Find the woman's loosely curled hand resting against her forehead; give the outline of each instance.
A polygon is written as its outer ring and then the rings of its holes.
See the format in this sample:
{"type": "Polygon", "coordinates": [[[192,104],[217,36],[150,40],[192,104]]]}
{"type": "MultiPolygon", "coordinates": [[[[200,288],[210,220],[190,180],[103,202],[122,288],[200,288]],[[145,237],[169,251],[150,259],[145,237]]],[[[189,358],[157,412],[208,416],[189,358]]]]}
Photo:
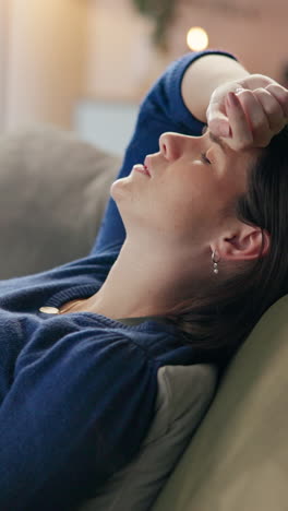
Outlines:
{"type": "Polygon", "coordinates": [[[251,74],[218,86],[206,116],[211,131],[232,150],[265,147],[288,121],[288,91],[268,76],[251,74]]]}

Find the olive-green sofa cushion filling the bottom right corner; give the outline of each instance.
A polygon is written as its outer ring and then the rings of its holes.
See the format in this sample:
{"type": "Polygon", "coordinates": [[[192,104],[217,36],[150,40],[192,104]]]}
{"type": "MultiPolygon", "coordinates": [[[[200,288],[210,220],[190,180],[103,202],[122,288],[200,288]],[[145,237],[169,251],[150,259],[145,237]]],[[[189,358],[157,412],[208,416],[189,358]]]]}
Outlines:
{"type": "Polygon", "coordinates": [[[288,296],[230,364],[153,511],[288,509],[288,296]]]}

